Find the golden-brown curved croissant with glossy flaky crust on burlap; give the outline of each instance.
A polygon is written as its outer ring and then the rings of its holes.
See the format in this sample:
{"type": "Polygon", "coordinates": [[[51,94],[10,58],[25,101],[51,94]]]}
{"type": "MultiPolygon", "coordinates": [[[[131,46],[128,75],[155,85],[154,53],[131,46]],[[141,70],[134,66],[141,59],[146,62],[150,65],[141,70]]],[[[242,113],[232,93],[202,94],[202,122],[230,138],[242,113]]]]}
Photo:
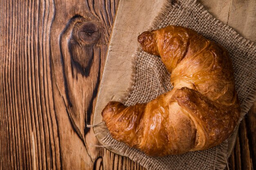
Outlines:
{"type": "Polygon", "coordinates": [[[138,41],[161,56],[173,89],[130,107],[109,102],[101,114],[112,137],[150,156],[205,150],[227,139],[240,116],[227,51],[182,26],[146,31],[138,41]]]}

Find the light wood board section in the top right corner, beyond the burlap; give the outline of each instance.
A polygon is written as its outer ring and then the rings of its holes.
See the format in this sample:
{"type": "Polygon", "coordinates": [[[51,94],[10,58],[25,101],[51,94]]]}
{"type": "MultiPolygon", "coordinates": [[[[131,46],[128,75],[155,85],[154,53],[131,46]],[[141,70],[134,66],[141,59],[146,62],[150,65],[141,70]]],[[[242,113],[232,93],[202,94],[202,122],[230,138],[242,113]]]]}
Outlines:
{"type": "Polygon", "coordinates": [[[256,42],[255,0],[198,0],[221,22],[234,28],[240,35],[256,42]]]}

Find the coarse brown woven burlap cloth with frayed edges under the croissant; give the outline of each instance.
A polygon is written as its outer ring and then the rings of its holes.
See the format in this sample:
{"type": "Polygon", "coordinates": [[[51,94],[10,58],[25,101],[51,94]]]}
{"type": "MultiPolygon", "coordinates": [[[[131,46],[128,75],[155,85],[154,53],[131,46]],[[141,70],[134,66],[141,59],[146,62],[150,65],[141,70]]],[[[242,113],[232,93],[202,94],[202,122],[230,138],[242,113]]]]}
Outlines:
{"type": "MultiPolygon", "coordinates": [[[[155,19],[152,29],[168,25],[185,26],[218,42],[229,51],[235,70],[236,89],[242,110],[240,120],[242,120],[256,99],[256,45],[218,21],[195,0],[179,0],[167,4],[163,13],[155,19]]],[[[143,52],[140,48],[135,53],[133,84],[128,94],[125,94],[126,97],[121,100],[127,106],[148,102],[172,89],[170,74],[159,57],[143,52]]],[[[106,133],[106,128],[103,129],[106,133]]],[[[148,157],[139,150],[116,141],[109,133],[101,142],[106,148],[111,148],[115,153],[127,156],[150,170],[224,169],[227,165],[228,144],[230,145],[226,140],[209,150],[166,157],[148,157]]]]}

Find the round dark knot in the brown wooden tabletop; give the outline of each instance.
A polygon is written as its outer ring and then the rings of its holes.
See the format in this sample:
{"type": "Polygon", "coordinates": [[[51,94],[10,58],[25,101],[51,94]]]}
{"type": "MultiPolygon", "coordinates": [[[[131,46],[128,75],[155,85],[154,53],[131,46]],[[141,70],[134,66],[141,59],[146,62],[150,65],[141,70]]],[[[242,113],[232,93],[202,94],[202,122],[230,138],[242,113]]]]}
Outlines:
{"type": "Polygon", "coordinates": [[[92,21],[78,22],[75,29],[76,39],[84,44],[93,44],[101,37],[99,28],[92,21]]]}

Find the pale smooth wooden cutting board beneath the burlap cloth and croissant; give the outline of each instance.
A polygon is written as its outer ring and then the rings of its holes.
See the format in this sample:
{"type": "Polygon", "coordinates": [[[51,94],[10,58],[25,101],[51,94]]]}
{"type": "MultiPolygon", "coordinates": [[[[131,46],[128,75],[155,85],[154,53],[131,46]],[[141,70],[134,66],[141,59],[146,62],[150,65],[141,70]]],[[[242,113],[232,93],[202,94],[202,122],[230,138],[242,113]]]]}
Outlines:
{"type": "MultiPolygon", "coordinates": [[[[146,25],[140,24],[140,17],[143,18],[145,16],[144,14],[148,13],[147,10],[150,9],[153,4],[144,1],[132,2],[133,1],[126,2],[122,0],[119,2],[119,9],[121,9],[122,12],[117,12],[113,27],[113,36],[110,39],[105,70],[103,72],[97,105],[94,112],[94,124],[102,122],[100,113],[109,101],[118,101],[128,91],[131,82],[132,56],[133,52],[135,52],[138,47],[136,35],[147,30],[146,28],[150,27],[150,22],[153,21],[152,19],[148,20],[148,18],[146,18],[143,20],[149,22],[146,25]],[[138,6],[144,7],[141,8],[139,14],[136,13],[138,6]],[[125,10],[123,7],[129,7],[129,10],[125,10]]],[[[251,39],[252,41],[256,40],[256,31],[253,29],[256,21],[254,10],[256,9],[256,5],[254,1],[251,0],[243,3],[230,0],[201,0],[200,2],[205,5],[213,16],[225,24],[233,26],[233,28],[245,38],[251,39]],[[246,25],[244,21],[247,21],[246,25]]],[[[165,1],[158,1],[158,3],[160,6],[163,6],[161,4],[164,4],[165,1]]],[[[97,127],[95,127],[95,131],[97,131],[97,127]]],[[[238,131],[238,129],[236,129],[236,131],[238,131]]],[[[236,133],[234,135],[236,135],[236,133]]],[[[103,136],[104,134],[97,135],[100,142],[103,136]]],[[[233,139],[235,140],[236,136],[234,136],[233,139]]],[[[230,141],[230,143],[234,142],[230,141]]],[[[230,154],[233,148],[234,145],[230,145],[230,154]]]]}

